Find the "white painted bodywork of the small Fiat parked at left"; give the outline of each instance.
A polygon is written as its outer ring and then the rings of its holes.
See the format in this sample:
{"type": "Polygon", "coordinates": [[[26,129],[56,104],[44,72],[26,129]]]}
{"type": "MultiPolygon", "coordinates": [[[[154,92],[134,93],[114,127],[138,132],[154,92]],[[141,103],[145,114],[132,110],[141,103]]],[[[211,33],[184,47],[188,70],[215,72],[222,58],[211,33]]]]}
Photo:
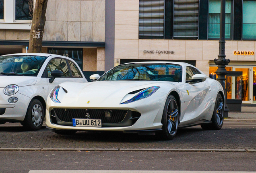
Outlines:
{"type": "MultiPolygon", "coordinates": [[[[41,69],[37,76],[5,76],[0,75],[0,108],[6,108],[6,111],[3,115],[0,115],[0,122],[21,122],[24,120],[27,113],[27,108],[30,101],[37,96],[43,98],[46,103],[47,96],[49,92],[58,84],[62,82],[87,82],[83,72],[79,68],[78,64],[71,58],[66,56],[59,56],[55,54],[35,54],[35,53],[26,53],[26,54],[8,54],[8,55],[35,55],[35,56],[46,56],[48,57],[45,62],[42,64],[41,69]],[[74,64],[79,68],[83,78],[55,78],[52,84],[49,83],[49,77],[42,78],[42,74],[47,66],[47,64],[53,58],[64,58],[74,62],[74,64]],[[19,87],[18,93],[8,96],[4,94],[4,88],[10,84],[15,84],[19,87]],[[19,101],[17,103],[9,103],[8,99],[10,97],[17,97],[19,101]]],[[[4,56],[8,56],[4,55],[4,56]]],[[[1,58],[1,56],[0,56],[1,58]]]]}

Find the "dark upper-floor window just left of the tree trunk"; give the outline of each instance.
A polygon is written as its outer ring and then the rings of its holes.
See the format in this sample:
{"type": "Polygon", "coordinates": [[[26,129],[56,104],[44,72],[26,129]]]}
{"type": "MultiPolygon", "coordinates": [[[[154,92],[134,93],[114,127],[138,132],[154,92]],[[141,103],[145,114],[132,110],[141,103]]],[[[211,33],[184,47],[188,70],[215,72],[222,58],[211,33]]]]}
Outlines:
{"type": "Polygon", "coordinates": [[[32,20],[33,0],[15,0],[15,20],[32,20]]]}

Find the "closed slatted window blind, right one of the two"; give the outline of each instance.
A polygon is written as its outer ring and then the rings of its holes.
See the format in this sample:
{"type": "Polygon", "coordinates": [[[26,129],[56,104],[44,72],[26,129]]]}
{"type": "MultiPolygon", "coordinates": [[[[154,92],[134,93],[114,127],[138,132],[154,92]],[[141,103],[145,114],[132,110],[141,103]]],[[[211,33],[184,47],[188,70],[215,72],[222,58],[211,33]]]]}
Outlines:
{"type": "Polygon", "coordinates": [[[174,0],[173,37],[198,37],[199,0],[174,0]]]}

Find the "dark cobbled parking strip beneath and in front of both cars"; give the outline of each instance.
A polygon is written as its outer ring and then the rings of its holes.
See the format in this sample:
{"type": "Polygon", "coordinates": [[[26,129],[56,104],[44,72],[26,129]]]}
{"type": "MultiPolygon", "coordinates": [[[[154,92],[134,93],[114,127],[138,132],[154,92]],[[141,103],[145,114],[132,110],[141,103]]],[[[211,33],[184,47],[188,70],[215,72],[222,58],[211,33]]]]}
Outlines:
{"type": "Polygon", "coordinates": [[[19,124],[6,123],[0,125],[1,148],[256,149],[256,121],[225,121],[220,131],[206,131],[200,126],[179,129],[171,141],[130,133],[81,131],[72,136],[57,135],[45,127],[24,131],[19,124]]]}

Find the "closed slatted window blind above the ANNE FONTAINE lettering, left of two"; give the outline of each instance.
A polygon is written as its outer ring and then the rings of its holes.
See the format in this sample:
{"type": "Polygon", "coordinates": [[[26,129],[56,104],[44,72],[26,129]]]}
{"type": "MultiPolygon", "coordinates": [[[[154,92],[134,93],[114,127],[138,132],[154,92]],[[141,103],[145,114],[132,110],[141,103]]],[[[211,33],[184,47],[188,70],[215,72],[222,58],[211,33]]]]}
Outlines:
{"type": "Polygon", "coordinates": [[[164,0],[139,0],[139,36],[163,36],[164,0]]]}

